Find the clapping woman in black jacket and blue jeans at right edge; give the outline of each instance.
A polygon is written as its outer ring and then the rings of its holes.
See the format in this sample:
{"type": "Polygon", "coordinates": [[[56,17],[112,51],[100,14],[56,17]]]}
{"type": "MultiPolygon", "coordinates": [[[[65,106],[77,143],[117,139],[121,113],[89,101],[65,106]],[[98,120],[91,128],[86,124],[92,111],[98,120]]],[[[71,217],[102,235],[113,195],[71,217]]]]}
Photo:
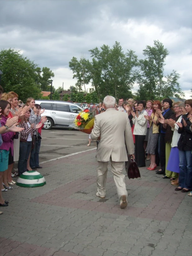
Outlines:
{"type": "Polygon", "coordinates": [[[181,137],[178,141],[177,147],[179,149],[179,187],[175,190],[181,192],[189,192],[192,190],[192,132],[190,130],[191,122],[189,120],[192,115],[192,99],[185,101],[185,109],[188,112],[183,115],[181,123],[177,122],[179,126],[178,133],[181,137]]]}

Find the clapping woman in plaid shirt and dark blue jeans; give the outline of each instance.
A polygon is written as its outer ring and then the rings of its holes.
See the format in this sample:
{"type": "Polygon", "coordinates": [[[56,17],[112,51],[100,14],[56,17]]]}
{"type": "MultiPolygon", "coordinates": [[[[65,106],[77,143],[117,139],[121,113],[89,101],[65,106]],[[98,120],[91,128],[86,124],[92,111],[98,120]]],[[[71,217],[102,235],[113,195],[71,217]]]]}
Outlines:
{"type": "Polygon", "coordinates": [[[19,148],[19,161],[18,161],[18,173],[21,175],[25,171],[27,171],[27,160],[30,155],[31,146],[32,146],[32,135],[34,131],[37,131],[42,123],[39,124],[31,124],[29,121],[31,114],[31,109],[25,114],[25,120],[22,124],[20,124],[21,128],[24,130],[21,131],[20,137],[20,148],[19,148]]]}

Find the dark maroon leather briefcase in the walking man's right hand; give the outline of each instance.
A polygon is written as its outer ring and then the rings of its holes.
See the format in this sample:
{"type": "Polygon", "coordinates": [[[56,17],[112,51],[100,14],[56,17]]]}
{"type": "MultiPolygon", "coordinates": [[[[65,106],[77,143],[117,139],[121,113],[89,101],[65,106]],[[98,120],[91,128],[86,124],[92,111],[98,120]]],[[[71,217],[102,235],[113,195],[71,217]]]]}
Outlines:
{"type": "Polygon", "coordinates": [[[141,177],[137,163],[132,156],[128,155],[128,161],[125,162],[125,170],[129,179],[141,177]]]}

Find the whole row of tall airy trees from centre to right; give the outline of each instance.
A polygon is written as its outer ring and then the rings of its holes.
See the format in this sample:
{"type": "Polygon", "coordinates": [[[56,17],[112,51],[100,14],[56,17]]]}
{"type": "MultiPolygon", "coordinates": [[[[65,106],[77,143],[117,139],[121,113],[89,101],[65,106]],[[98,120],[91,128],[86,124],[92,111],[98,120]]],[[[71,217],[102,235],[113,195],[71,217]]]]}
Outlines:
{"type": "Polygon", "coordinates": [[[134,84],[139,85],[135,96],[137,99],[161,99],[176,94],[183,96],[178,83],[179,74],[175,70],[167,75],[164,73],[169,52],[158,40],[154,41],[153,46],[146,46],[144,59],[140,60],[132,50],[124,53],[118,42],[112,48],[104,44],[100,49],[96,47],[89,52],[91,60],[81,58],[78,61],[73,57],[69,67],[73,71],[73,78],[77,79],[78,91],[87,93],[85,85],[91,84],[97,102],[107,94],[116,99],[132,98],[134,84]]]}

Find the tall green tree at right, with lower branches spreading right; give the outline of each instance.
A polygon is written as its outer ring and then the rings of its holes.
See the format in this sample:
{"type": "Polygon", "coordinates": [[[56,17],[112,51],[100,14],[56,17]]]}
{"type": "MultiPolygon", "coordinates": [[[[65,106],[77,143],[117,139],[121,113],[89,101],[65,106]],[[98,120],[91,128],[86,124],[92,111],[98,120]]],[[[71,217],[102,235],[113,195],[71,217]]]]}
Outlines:
{"type": "Polygon", "coordinates": [[[178,83],[179,74],[174,70],[168,75],[164,74],[165,60],[169,55],[167,48],[155,40],[154,46],[146,46],[143,55],[145,59],[139,60],[140,70],[137,73],[137,98],[148,100],[162,99],[174,94],[183,95],[178,83]]]}

